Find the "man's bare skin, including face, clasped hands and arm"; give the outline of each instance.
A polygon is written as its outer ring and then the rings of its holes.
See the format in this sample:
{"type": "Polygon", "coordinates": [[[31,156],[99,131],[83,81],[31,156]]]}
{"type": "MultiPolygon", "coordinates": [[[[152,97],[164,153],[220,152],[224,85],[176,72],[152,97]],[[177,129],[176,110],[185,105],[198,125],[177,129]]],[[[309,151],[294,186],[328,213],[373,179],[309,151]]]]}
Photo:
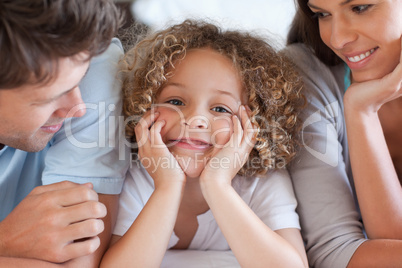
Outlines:
{"type": "MultiPolygon", "coordinates": [[[[89,66],[84,59],[86,53],[61,59],[48,84],[0,90],[0,149],[39,151],[66,118],[85,114],[78,87],[89,66]],[[74,107],[81,108],[71,114],[74,107]]],[[[98,195],[90,183],[36,187],[0,222],[0,266],[97,267],[117,204],[118,196],[98,195]]]]}

